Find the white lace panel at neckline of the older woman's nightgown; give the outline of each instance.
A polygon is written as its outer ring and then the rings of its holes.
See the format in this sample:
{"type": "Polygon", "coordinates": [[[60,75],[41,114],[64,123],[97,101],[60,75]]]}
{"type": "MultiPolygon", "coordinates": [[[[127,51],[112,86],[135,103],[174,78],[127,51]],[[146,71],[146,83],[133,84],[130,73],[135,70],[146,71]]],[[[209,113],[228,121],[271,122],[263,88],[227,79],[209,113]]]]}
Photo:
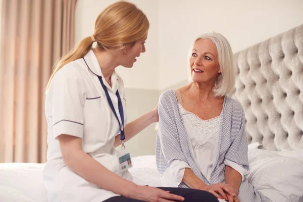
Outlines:
{"type": "Polygon", "coordinates": [[[209,120],[200,119],[195,114],[186,111],[180,104],[179,109],[182,118],[192,131],[192,136],[199,145],[205,144],[219,130],[220,116],[209,120]]]}

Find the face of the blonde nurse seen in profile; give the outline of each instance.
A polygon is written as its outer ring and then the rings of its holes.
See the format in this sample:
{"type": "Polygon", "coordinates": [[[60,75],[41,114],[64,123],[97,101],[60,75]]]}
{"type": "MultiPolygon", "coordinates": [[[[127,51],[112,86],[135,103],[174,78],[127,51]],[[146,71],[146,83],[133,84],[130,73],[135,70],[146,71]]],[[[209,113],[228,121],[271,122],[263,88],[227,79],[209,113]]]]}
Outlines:
{"type": "Polygon", "coordinates": [[[122,60],[121,65],[123,67],[132,68],[134,62],[136,62],[136,58],[140,56],[141,53],[145,52],[145,40],[147,39],[147,34],[145,34],[142,38],[138,39],[133,46],[126,46],[122,49],[122,60]]]}

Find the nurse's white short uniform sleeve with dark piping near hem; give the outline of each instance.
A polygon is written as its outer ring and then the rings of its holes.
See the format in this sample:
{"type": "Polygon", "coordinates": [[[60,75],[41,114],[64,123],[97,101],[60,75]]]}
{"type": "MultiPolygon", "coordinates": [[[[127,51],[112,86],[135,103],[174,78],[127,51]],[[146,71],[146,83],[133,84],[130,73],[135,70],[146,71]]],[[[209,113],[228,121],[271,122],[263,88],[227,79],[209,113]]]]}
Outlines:
{"type": "Polygon", "coordinates": [[[85,90],[83,78],[74,67],[59,70],[50,86],[54,137],[61,134],[83,137],[85,90]]]}

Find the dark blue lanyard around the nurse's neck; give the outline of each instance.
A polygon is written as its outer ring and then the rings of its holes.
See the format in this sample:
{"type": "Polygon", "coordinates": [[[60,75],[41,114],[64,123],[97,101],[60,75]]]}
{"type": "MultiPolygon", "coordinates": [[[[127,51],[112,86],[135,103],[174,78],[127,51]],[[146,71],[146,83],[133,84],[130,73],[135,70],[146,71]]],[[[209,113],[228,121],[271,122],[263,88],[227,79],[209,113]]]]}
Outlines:
{"type": "MultiPolygon", "coordinates": [[[[87,63],[86,63],[86,61],[85,61],[84,58],[83,58],[83,60],[84,60],[84,62],[86,64],[86,66],[88,67],[88,65],[87,65],[87,63]]],[[[90,69],[90,68],[88,67],[88,69],[90,69]]],[[[102,76],[98,76],[98,75],[96,75],[96,76],[98,77],[98,79],[99,79],[99,81],[100,81],[100,83],[101,83],[101,85],[102,85],[102,87],[103,87],[103,89],[105,91],[108,103],[109,103],[109,105],[110,105],[110,107],[111,107],[111,109],[112,109],[112,111],[113,111],[113,113],[114,113],[114,115],[115,115],[118,123],[119,123],[119,127],[120,127],[120,141],[122,142],[122,149],[124,149],[125,148],[125,146],[124,146],[124,140],[125,140],[125,134],[124,134],[124,114],[123,114],[123,106],[122,106],[122,102],[121,102],[121,97],[120,97],[119,91],[117,90],[116,95],[118,97],[118,109],[119,109],[119,114],[120,114],[120,118],[121,118],[123,129],[121,129],[122,127],[121,127],[119,118],[118,118],[116,110],[114,108],[112,99],[111,99],[111,97],[109,95],[109,91],[108,91],[107,87],[104,85],[104,82],[102,80],[102,76]]]]}

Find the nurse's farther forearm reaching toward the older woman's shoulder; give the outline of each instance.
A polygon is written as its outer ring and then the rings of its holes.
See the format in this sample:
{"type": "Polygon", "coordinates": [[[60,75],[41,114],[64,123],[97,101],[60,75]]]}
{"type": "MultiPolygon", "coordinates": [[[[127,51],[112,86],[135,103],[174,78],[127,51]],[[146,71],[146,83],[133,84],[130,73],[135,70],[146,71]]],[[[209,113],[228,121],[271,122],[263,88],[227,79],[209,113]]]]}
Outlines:
{"type": "MultiPolygon", "coordinates": [[[[156,122],[156,115],[154,111],[147,112],[146,114],[142,115],[141,117],[135,119],[134,121],[126,124],[124,133],[125,133],[125,141],[130,140],[136,134],[141,132],[150,124],[156,122]]],[[[114,147],[121,145],[120,141],[120,134],[115,137],[114,147]]]]}

